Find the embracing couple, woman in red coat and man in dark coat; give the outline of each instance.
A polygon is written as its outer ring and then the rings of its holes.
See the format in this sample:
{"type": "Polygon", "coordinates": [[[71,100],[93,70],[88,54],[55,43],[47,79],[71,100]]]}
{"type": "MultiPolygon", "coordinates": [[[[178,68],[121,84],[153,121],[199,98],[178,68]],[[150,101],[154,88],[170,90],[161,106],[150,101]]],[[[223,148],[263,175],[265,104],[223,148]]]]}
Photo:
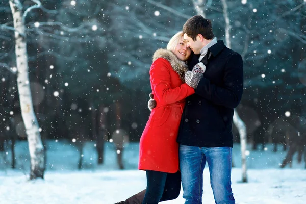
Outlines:
{"type": "Polygon", "coordinates": [[[211,21],[187,20],[150,67],[151,114],[140,139],[145,190],[119,203],[155,204],[179,196],[202,203],[207,162],[217,204],[233,204],[233,114],[243,92],[241,56],[217,40],[211,21]]]}

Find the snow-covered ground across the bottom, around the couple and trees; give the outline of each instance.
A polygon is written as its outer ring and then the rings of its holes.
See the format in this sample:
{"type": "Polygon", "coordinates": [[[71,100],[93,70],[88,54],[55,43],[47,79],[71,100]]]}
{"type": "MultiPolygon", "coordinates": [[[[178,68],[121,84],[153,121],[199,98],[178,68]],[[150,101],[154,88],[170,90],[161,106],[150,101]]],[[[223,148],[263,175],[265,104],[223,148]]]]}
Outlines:
{"type": "MultiPolygon", "coordinates": [[[[0,158],[0,203],[101,203],[113,204],[143,190],[145,172],[137,170],[138,143],[130,143],[124,151],[126,170],[118,170],[116,152],[111,143],[106,143],[105,163],[96,164],[93,142],[84,150],[84,168],[77,170],[78,151],[67,141],[48,141],[47,171],[45,180],[27,181],[29,153],[27,142],[16,144],[17,169],[11,170],[0,158]]],[[[286,152],[250,151],[247,158],[248,183],[241,183],[240,146],[234,145],[233,158],[236,167],[232,171],[232,188],[236,203],[305,203],[306,170],[304,163],[296,159],[292,168],[279,168],[286,152]]],[[[7,153],[7,162],[10,152],[7,153]]],[[[296,157],[296,156],[295,156],[296,157]]],[[[203,203],[215,203],[205,169],[203,203]]],[[[163,203],[184,203],[182,191],[179,198],[163,203]]]]}

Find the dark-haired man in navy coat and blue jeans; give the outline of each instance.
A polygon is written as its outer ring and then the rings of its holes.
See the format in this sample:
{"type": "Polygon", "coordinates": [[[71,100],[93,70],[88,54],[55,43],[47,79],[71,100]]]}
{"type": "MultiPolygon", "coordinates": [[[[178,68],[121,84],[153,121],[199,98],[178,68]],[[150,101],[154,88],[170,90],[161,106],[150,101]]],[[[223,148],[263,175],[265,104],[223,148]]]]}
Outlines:
{"type": "Polygon", "coordinates": [[[211,21],[196,15],[183,26],[184,39],[194,56],[189,70],[203,63],[201,73],[187,71],[185,81],[195,89],[186,98],[177,142],[180,143],[185,204],[202,203],[203,170],[206,162],[217,204],[232,204],[232,123],[234,108],[243,92],[241,56],[217,41],[211,21]]]}

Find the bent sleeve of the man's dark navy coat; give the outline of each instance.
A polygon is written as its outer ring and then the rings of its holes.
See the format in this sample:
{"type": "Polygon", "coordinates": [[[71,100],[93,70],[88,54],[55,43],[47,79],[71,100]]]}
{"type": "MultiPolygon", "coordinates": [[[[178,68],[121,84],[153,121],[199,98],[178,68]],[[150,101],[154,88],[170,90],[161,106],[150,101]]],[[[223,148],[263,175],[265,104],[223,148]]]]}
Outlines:
{"type": "Polygon", "coordinates": [[[243,62],[238,53],[228,59],[224,68],[223,86],[218,87],[203,77],[195,93],[212,101],[216,105],[236,108],[240,103],[243,92],[243,62]]]}

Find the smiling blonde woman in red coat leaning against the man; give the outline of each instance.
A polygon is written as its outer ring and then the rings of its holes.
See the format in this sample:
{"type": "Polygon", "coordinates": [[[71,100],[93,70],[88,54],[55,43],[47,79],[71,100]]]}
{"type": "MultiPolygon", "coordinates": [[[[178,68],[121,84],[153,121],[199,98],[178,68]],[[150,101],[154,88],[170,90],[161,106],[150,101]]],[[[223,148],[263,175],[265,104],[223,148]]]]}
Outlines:
{"type": "Polygon", "coordinates": [[[158,203],[175,199],[181,190],[179,144],[177,133],[185,98],[194,89],[184,82],[188,70],[186,61],[191,55],[183,38],[176,33],[167,49],[158,49],[150,68],[150,84],[156,100],[139,143],[138,169],[146,171],[146,190],[120,203],[158,203]],[[142,201],[142,202],[141,202],[142,201]]]}

